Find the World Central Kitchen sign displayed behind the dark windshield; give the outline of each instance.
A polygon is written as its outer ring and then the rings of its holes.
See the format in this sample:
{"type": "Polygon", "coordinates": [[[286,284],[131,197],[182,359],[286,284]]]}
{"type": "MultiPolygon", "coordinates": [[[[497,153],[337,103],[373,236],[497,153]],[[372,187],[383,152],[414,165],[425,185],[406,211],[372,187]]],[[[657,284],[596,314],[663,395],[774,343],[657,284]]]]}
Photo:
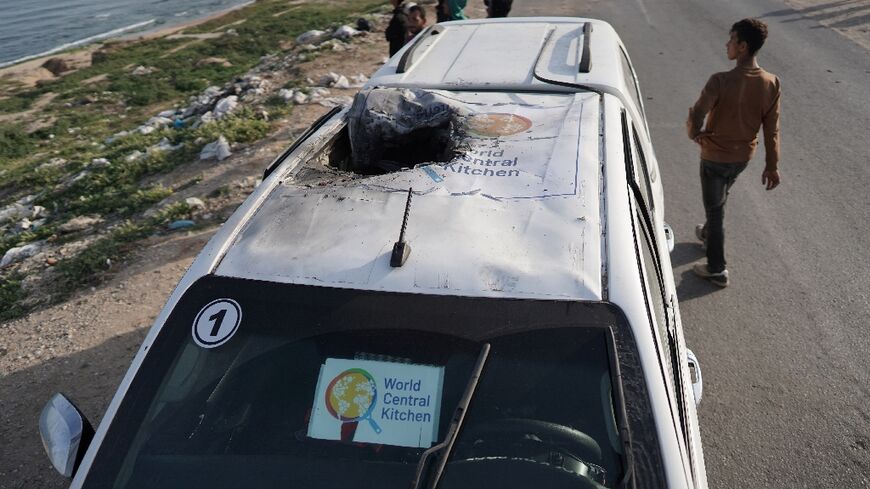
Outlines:
{"type": "Polygon", "coordinates": [[[429,448],[438,435],[444,368],[328,358],[308,436],[429,448]]]}

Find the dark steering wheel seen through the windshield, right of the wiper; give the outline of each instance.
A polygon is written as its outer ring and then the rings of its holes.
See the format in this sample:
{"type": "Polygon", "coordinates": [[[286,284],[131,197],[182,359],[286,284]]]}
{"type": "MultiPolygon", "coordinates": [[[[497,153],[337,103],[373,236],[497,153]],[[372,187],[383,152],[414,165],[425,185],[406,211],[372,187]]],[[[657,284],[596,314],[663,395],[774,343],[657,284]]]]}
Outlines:
{"type": "Polygon", "coordinates": [[[533,463],[580,476],[590,483],[603,483],[601,446],[582,431],[548,421],[503,418],[469,425],[461,438],[466,463],[503,466],[533,463]]]}

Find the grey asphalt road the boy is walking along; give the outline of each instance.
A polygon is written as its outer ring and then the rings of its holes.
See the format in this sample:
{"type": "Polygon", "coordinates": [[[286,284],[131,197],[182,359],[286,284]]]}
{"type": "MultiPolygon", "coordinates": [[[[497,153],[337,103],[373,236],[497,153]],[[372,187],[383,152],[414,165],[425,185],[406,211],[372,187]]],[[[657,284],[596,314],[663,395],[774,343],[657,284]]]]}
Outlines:
{"type": "MultiPolygon", "coordinates": [[[[777,0],[514,0],[512,16],[604,19],[632,57],[677,234],[683,324],[704,374],[712,488],[870,487],[870,53],[801,15],[846,3],[799,12],[777,0]],[[709,75],[732,67],[725,42],[744,17],[769,25],[759,62],[783,86],[783,183],[764,190],[759,151],[732,189],[732,286],[720,290],[690,271],[703,208],[683,122],[709,75]]],[[[870,25],[860,5],[853,22],[870,25]]]]}

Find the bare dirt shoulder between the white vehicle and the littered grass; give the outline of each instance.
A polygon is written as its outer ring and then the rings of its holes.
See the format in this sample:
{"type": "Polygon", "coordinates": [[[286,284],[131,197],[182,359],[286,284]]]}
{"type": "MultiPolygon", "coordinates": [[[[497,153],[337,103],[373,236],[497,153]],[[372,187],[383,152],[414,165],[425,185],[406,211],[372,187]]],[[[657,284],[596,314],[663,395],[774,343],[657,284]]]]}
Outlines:
{"type": "MultiPolygon", "coordinates": [[[[482,4],[481,4],[482,5],[482,4]]],[[[430,9],[430,18],[434,11],[430,9]]],[[[483,17],[481,7],[467,9],[483,17]]],[[[318,80],[329,72],[371,75],[383,62],[385,19],[375,31],[345,51],[300,65],[301,78],[318,80]]],[[[277,76],[277,74],[276,74],[277,76]]],[[[330,89],[332,96],[356,89],[330,89]]],[[[263,169],[306,127],[329,110],[300,105],[279,129],[221,162],[192,161],[153,177],[171,187],[185,186],[173,198],[211,196],[212,225],[160,234],[136,243],[124,263],[112,267],[102,285],[70,300],[0,324],[0,489],[61,488],[69,481],[51,467],[39,441],[38,419],[54,392],[67,394],[96,426],[152,321],[173,287],[220,222],[253,189],[263,169]],[[191,182],[193,182],[191,184],[191,182]]]]}

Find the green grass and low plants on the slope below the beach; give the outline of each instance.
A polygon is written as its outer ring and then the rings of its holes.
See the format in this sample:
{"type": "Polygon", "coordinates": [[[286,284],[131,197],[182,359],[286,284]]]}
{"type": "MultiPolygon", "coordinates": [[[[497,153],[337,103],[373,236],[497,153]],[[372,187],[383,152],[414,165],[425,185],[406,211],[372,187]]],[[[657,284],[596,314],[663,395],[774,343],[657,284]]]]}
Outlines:
{"type": "MultiPolygon", "coordinates": [[[[58,227],[77,216],[99,215],[107,224],[116,224],[76,256],[57,263],[53,297],[60,299],[78,286],[96,283],[108,264],[122,259],[136,241],[191,213],[185,204],[174,204],[156,216],[143,217],[143,211],[173,193],[144,184],[148,177],[196,160],[203,145],[219,135],[230,143],[250,143],[267,136],[273,127],[255,111],[240,108],[196,128],[164,128],[150,134],[133,129],[162,110],[186,106],[189,97],[209,86],[223,86],[248,72],[264,55],[280,55],[282,45],[307,30],[352,23],[360,13],[382,10],[384,4],[383,0],[328,4],[311,0],[290,7],[286,0],[260,0],[187,31],[223,33],[220,37],[109,42],[94,54],[90,67],[34,88],[4,82],[0,115],[30,110],[37,100],[40,108],[28,117],[32,123],[22,124],[14,117],[0,123],[0,208],[35,195],[33,203],[50,215],[34,230],[0,231],[0,256],[38,240],[73,239],[58,237],[58,227]],[[146,67],[146,73],[134,75],[138,66],[146,67]],[[112,137],[120,131],[131,132],[112,137]],[[168,143],[176,149],[156,149],[164,139],[164,146],[168,143]],[[94,163],[98,158],[108,164],[94,163]]],[[[280,99],[271,99],[266,106],[273,119],[292,110],[280,99]]],[[[228,191],[218,190],[218,196],[228,191]]],[[[21,276],[0,273],[0,321],[27,312],[26,293],[21,276]]]]}

